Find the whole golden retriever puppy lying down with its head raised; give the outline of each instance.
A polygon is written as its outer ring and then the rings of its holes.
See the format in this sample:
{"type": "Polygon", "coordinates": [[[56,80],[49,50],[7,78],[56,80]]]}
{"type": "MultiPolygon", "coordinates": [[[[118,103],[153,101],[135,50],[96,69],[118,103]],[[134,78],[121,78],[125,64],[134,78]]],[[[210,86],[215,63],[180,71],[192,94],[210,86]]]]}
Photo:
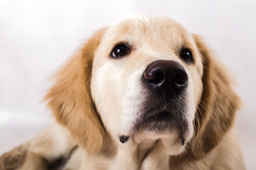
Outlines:
{"type": "Polygon", "coordinates": [[[240,98],[198,35],[160,16],[102,28],[55,75],[55,121],[2,169],[245,169],[240,98]],[[9,167],[9,168],[8,168],[9,167]]]}

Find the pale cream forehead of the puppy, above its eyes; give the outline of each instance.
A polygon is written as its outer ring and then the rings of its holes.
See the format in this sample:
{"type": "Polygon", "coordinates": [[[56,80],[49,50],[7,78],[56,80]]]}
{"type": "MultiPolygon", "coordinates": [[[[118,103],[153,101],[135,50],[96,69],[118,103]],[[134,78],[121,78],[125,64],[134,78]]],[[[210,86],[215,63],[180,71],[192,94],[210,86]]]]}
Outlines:
{"type": "Polygon", "coordinates": [[[191,40],[180,23],[162,16],[136,16],[117,23],[106,32],[108,42],[131,42],[137,46],[150,45],[175,49],[191,40]],[[184,42],[186,41],[186,42],[184,42]]]}

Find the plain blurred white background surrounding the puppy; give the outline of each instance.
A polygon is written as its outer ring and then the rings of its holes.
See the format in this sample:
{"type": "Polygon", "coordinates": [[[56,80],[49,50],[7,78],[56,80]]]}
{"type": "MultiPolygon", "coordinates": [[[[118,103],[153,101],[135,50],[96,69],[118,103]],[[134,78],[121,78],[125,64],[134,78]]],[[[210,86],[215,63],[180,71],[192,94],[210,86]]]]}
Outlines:
{"type": "Polygon", "coordinates": [[[176,19],[203,35],[238,80],[236,128],[247,169],[256,169],[256,1],[0,0],[0,154],[51,120],[49,77],[93,33],[136,13],[176,19]]]}

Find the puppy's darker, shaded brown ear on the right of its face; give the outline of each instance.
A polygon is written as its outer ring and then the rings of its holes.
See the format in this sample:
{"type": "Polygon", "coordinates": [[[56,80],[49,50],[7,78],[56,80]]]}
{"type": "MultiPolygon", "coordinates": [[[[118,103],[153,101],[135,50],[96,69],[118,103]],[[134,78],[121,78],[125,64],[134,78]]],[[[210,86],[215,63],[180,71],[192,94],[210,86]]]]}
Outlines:
{"type": "Polygon", "coordinates": [[[213,58],[213,52],[198,35],[193,39],[203,60],[203,94],[194,120],[193,155],[203,157],[233,126],[241,102],[225,66],[213,58]]]}

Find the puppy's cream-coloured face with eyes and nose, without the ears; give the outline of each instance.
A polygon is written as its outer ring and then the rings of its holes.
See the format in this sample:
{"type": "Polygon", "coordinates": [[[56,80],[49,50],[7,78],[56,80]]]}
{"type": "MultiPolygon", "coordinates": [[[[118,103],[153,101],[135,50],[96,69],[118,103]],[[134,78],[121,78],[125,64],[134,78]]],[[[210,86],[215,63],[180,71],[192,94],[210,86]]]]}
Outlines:
{"type": "Polygon", "coordinates": [[[91,93],[113,138],[164,141],[181,152],[193,136],[203,65],[188,31],[169,18],[107,28],[92,64],[91,93]]]}

